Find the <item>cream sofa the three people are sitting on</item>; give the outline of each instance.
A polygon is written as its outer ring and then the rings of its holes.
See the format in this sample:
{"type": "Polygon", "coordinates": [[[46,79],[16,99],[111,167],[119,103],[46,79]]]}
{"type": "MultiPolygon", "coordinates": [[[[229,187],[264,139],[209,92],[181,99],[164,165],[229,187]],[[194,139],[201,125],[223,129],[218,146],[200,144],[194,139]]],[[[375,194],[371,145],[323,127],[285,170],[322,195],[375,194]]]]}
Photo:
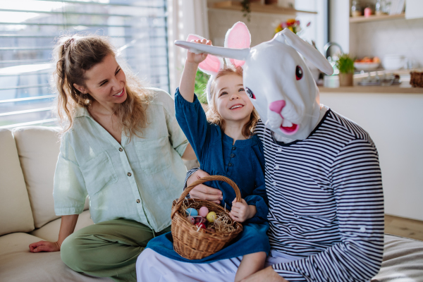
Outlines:
{"type": "MultiPolygon", "coordinates": [[[[53,177],[58,128],[0,129],[0,282],[111,281],[68,268],[59,252],[29,252],[30,243],[56,241],[53,177]]],[[[76,229],[92,224],[86,204],[76,229]]],[[[385,236],[382,269],[375,281],[423,282],[423,242],[385,236]]]]}

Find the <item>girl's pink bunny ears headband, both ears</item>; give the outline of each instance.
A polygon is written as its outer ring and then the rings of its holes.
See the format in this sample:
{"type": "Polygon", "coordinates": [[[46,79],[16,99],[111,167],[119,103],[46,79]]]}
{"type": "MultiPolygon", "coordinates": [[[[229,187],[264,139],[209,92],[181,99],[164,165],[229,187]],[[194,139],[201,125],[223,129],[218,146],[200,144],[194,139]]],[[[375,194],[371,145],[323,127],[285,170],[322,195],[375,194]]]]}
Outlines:
{"type": "MultiPolygon", "coordinates": [[[[204,39],[199,35],[188,35],[187,42],[191,42],[191,40],[200,40],[204,39]]],[[[250,48],[251,44],[251,35],[250,31],[248,31],[247,25],[242,22],[235,23],[231,29],[226,32],[225,36],[225,47],[226,48],[233,48],[233,49],[245,49],[250,48]]],[[[245,61],[240,61],[237,59],[229,59],[229,61],[233,64],[233,66],[243,66],[245,61]]],[[[221,71],[225,66],[225,61],[223,58],[217,57],[214,55],[207,55],[207,58],[200,63],[198,68],[203,73],[207,73],[210,75],[209,82],[207,82],[206,93],[207,93],[207,102],[210,103],[212,99],[212,95],[210,93],[210,87],[214,78],[216,77],[217,73],[221,71]]]]}

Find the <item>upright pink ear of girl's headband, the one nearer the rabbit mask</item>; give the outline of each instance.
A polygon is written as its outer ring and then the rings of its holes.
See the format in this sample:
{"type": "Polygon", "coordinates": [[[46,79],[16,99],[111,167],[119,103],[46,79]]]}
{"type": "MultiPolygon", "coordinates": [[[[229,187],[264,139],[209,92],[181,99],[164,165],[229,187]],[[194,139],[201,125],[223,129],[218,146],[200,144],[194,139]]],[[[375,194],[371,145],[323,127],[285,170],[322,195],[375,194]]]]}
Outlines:
{"type": "MultiPolygon", "coordinates": [[[[243,22],[238,22],[226,32],[225,36],[225,47],[233,49],[245,49],[250,48],[251,35],[248,31],[247,25],[243,22]]],[[[245,61],[236,59],[229,59],[234,66],[243,66],[245,61]]]]}

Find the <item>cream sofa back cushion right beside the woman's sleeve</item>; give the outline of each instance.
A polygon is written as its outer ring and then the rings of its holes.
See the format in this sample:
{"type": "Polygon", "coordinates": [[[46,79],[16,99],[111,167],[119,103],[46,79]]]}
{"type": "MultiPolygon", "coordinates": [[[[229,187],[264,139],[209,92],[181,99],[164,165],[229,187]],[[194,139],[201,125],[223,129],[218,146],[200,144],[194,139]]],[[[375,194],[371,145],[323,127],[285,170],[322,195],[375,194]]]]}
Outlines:
{"type": "Polygon", "coordinates": [[[15,128],[20,166],[27,186],[35,228],[57,219],[54,213],[53,180],[59,157],[59,128],[27,126],[15,128]]]}

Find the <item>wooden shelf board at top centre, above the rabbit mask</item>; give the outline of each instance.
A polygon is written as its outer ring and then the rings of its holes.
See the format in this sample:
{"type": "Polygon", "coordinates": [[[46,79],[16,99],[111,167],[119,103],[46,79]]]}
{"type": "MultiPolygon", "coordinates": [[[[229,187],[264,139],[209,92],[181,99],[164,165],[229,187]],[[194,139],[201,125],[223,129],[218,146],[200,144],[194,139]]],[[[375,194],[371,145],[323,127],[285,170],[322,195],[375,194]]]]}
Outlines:
{"type": "MultiPolygon", "coordinates": [[[[212,8],[241,11],[243,9],[243,6],[241,6],[240,2],[238,1],[221,1],[221,2],[214,3],[212,8]]],[[[317,12],[311,12],[311,11],[299,11],[293,8],[279,7],[276,5],[262,5],[258,3],[250,4],[250,8],[252,12],[277,13],[277,14],[283,14],[283,15],[295,15],[297,13],[317,13],[317,12]]]]}

